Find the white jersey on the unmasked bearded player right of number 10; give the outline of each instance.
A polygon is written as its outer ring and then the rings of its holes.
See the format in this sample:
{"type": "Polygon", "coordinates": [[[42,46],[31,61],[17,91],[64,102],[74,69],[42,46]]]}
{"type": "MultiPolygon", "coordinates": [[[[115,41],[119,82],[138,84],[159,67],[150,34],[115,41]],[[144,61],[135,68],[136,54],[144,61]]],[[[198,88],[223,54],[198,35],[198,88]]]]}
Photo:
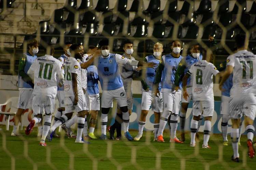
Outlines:
{"type": "Polygon", "coordinates": [[[76,61],[74,57],[69,57],[65,61],[63,67],[65,71],[65,82],[64,82],[65,97],[74,96],[71,73],[77,74],[76,80],[77,80],[78,95],[79,96],[84,95],[83,88],[82,88],[81,66],[78,63],[78,61],[76,61]]]}

